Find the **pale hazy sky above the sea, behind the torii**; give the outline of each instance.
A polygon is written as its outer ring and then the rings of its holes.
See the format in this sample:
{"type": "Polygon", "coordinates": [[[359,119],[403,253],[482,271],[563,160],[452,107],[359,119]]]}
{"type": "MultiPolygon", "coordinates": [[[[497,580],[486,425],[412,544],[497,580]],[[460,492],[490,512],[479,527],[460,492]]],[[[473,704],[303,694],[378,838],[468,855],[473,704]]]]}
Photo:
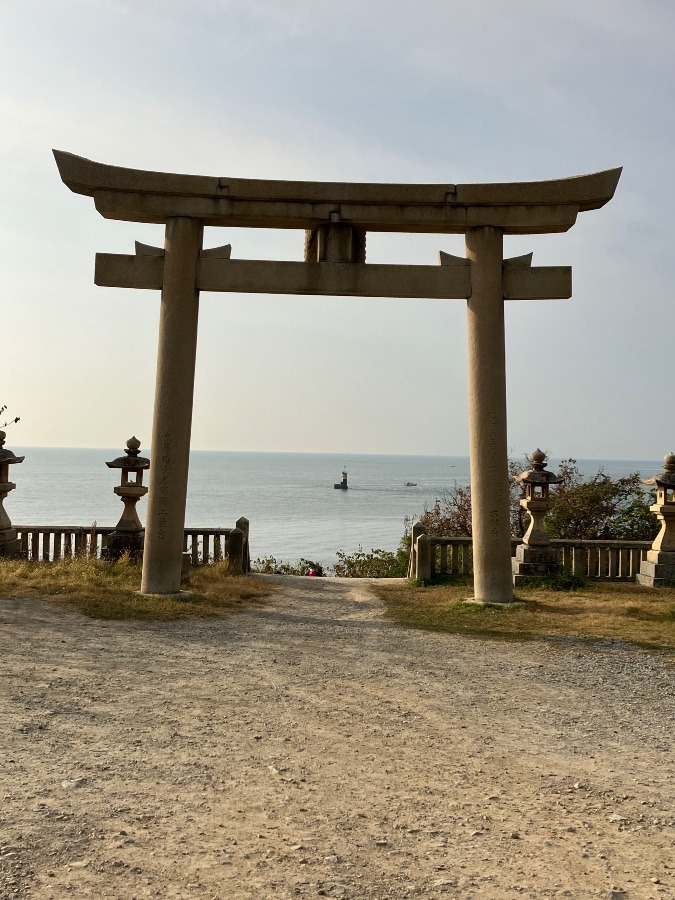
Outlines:
{"type": "MultiPolygon", "coordinates": [[[[508,255],[571,265],[567,301],[507,305],[509,445],[675,448],[672,0],[0,0],[0,404],[8,445],[151,433],[159,295],[94,255],[160,244],[103,219],[51,148],[122,166],[308,180],[481,182],[623,165],[614,199],[508,255]]],[[[301,259],[303,233],[208,229],[301,259]]],[[[370,262],[464,255],[370,234],[370,262]]],[[[204,293],[196,449],[468,452],[461,300],[204,293]]]]}

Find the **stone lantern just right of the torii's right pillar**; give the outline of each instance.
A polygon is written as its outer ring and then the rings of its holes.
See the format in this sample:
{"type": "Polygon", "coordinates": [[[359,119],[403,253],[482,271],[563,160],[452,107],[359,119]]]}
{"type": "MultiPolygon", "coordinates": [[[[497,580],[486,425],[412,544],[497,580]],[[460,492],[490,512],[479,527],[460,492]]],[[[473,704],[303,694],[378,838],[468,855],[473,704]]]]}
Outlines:
{"type": "Polygon", "coordinates": [[[551,508],[549,488],[560,484],[562,478],[546,471],[546,454],[538,448],[530,456],[530,464],[529,469],[515,477],[525,488],[520,505],[530,514],[530,526],[512,560],[514,584],[522,584],[528,577],[555,575],[560,571],[558,551],[551,547],[544,529],[544,516],[551,508]]]}

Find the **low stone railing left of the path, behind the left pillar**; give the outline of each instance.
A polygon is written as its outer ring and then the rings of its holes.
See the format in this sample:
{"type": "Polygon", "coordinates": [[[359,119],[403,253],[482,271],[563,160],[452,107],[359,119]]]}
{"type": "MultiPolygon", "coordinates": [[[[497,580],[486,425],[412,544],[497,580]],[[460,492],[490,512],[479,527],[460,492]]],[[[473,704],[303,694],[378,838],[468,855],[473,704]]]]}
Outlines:
{"type": "MultiPolygon", "coordinates": [[[[21,556],[29,560],[53,562],[74,556],[100,557],[106,549],[113,526],[91,525],[15,525],[21,541],[21,556]]],[[[251,569],[248,546],[248,519],[241,518],[235,528],[186,528],[183,552],[198,566],[227,559],[234,572],[251,569]]]]}

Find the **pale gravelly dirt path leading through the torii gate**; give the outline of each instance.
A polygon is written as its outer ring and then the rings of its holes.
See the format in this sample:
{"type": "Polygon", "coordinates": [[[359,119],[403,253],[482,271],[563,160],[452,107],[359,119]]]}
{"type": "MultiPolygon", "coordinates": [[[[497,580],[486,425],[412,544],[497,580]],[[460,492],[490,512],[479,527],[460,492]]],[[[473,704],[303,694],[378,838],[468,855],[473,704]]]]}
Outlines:
{"type": "Polygon", "coordinates": [[[675,897],[666,660],[280,580],[169,625],[0,599],[3,900],[675,897]]]}

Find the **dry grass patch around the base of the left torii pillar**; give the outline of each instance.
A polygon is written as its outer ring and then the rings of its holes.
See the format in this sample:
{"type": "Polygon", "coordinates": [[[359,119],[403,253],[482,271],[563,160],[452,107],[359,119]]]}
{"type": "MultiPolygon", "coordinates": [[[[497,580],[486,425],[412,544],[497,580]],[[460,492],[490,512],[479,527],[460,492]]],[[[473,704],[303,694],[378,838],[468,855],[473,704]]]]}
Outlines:
{"type": "Polygon", "coordinates": [[[0,597],[47,600],[94,619],[167,622],[219,616],[260,601],[277,589],[253,576],[229,575],[225,562],[193,569],[185,597],[142,596],[140,585],[140,564],[125,557],[117,562],[0,560],[0,597]]]}

